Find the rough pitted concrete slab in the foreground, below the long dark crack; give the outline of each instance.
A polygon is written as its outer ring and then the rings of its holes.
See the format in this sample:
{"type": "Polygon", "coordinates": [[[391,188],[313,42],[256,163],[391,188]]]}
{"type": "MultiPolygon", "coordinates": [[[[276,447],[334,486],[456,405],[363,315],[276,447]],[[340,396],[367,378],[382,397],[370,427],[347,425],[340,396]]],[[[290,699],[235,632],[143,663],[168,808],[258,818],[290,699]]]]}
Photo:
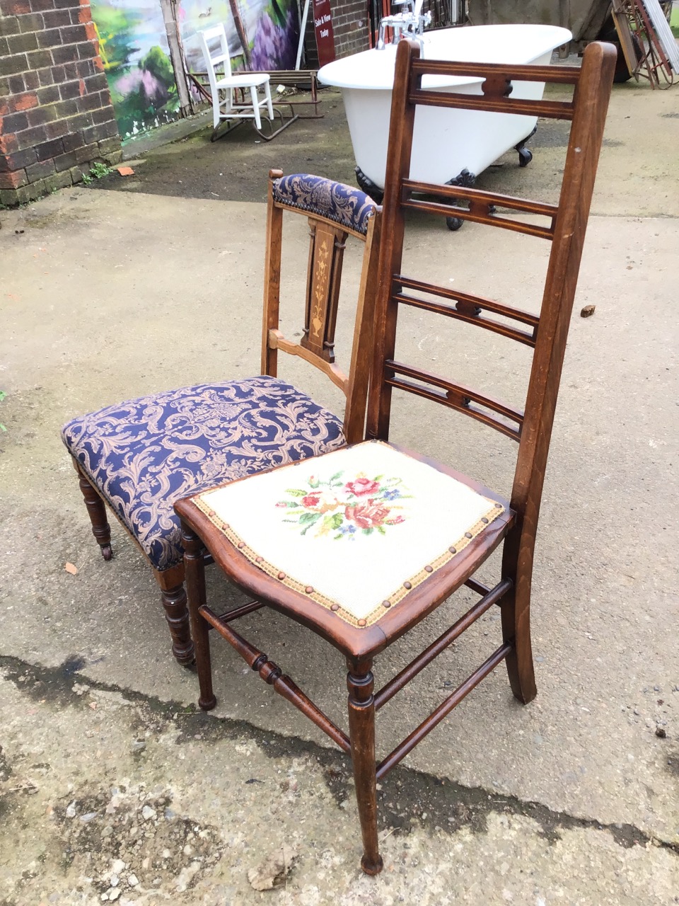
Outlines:
{"type": "Polygon", "coordinates": [[[407,768],[380,793],[385,871],[369,879],[334,752],[67,670],[3,658],[0,671],[0,896],[13,906],[676,901],[676,853],[628,825],[407,768]],[[283,845],[287,878],[253,891],[247,872],[283,845]]]}

